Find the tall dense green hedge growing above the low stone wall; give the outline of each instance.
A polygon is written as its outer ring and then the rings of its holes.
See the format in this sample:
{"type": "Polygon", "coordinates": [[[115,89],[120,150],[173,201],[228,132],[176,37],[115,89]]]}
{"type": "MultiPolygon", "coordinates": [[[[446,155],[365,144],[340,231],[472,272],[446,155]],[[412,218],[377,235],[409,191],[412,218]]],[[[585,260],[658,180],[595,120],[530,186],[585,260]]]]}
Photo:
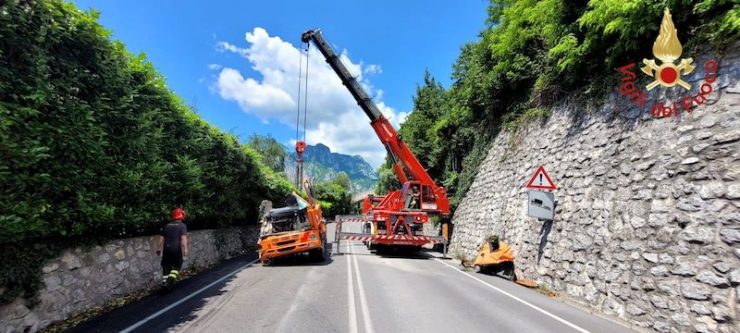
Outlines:
{"type": "Polygon", "coordinates": [[[260,200],[291,190],[97,17],[57,0],[0,4],[0,301],[32,294],[48,257],[18,249],[151,233],[175,205],[193,228],[254,223],[260,200]]]}

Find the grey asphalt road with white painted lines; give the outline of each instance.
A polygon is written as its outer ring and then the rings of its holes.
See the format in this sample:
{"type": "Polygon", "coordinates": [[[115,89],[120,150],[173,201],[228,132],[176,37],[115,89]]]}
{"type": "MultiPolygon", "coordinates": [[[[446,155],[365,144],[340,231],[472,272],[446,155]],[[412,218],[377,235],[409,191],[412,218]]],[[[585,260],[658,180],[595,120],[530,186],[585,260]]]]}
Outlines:
{"type": "Polygon", "coordinates": [[[70,332],[631,332],[438,254],[340,249],[322,263],[232,260],[70,332]]]}

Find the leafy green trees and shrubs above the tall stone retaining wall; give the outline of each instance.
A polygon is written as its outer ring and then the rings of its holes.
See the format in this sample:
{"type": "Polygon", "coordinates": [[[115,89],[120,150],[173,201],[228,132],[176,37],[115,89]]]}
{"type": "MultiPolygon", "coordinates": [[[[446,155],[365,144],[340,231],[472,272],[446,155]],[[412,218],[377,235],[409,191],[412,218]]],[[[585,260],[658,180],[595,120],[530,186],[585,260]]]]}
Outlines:
{"type": "MultiPolygon", "coordinates": [[[[687,56],[738,41],[740,5],[730,0],[492,0],[479,39],[461,47],[452,85],[425,73],[401,136],[455,208],[501,129],[543,119],[566,98],[598,100],[617,89],[609,78],[618,67],[653,58],[666,7],[687,56]]],[[[392,169],[379,174],[384,193],[392,169]]]]}

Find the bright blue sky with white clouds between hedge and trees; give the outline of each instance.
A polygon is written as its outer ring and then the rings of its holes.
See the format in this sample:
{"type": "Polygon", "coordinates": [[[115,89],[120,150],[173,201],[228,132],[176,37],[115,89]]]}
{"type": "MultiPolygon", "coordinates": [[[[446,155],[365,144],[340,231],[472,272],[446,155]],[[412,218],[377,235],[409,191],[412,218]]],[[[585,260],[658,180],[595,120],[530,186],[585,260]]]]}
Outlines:
{"type": "MultiPolygon", "coordinates": [[[[295,139],[300,34],[326,39],[397,126],[425,69],[445,86],[460,47],[484,27],[487,1],[75,1],[133,53],[144,52],[208,122],[246,139],[295,139]]],[[[309,144],[384,151],[365,115],[317,53],[309,53],[309,144]]],[[[305,60],[304,60],[305,61],[305,60]]]]}

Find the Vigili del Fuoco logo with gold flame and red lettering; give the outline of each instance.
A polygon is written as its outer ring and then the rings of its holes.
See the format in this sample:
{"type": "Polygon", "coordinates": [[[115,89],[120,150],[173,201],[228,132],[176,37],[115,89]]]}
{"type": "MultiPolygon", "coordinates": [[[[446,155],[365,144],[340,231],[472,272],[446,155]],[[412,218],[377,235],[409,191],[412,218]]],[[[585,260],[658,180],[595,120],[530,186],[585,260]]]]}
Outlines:
{"type": "MultiPolygon", "coordinates": [[[[683,48],[678,40],[678,31],[673,25],[671,12],[666,8],[663,12],[663,21],[660,23],[660,33],[658,38],[655,39],[655,43],[653,43],[653,56],[660,60],[660,63],[655,59],[643,59],[644,66],[640,68],[643,73],[654,78],[653,82],[650,82],[644,89],[637,87],[634,82],[637,75],[633,72],[636,64],[631,63],[619,68],[619,71],[623,74],[619,93],[630,98],[633,104],[644,108],[649,103],[647,91],[653,90],[657,86],[662,86],[665,89],[682,88],[682,91],[676,94],[677,96],[680,96],[681,93],[690,92],[691,84],[684,81],[683,77],[692,73],[696,66],[694,66],[694,59],[681,58],[682,53],[683,48]],[[679,60],[679,58],[680,61],[676,64],[676,60],[679,60]],[[680,88],[675,88],[676,86],[680,88]]],[[[654,101],[650,106],[650,114],[656,118],[677,117],[681,114],[682,109],[686,113],[691,113],[694,107],[704,104],[707,95],[712,93],[712,83],[717,81],[719,68],[715,60],[709,60],[704,64],[704,69],[704,81],[696,95],[683,94],[683,96],[677,98],[677,101],[654,101]]]]}

